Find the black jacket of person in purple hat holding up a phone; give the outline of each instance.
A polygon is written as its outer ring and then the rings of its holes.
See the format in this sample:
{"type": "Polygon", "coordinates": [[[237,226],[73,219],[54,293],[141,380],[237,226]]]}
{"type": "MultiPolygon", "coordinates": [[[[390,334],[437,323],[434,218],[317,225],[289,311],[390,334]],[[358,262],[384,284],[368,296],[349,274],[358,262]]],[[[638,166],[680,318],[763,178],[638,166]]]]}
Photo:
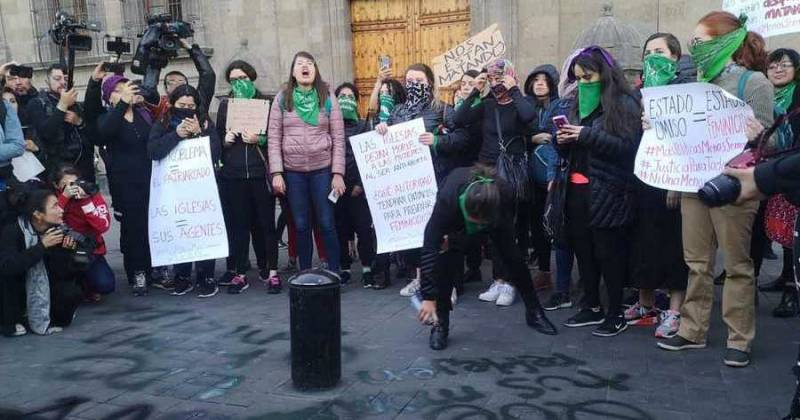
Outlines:
{"type": "Polygon", "coordinates": [[[147,143],[152,123],[139,112],[133,113],[133,122],[125,120],[128,104],[119,101],[117,106],[100,116],[97,121],[98,145],[106,146],[110,157],[108,173],[115,183],[149,183],[150,157],[147,143]]]}

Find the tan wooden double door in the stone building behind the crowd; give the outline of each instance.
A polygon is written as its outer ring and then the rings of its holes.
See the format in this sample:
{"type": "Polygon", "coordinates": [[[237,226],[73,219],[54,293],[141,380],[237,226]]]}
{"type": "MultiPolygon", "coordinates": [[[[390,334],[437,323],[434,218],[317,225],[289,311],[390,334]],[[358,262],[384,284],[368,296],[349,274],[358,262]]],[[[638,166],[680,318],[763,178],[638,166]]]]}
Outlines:
{"type": "MultiPolygon", "coordinates": [[[[378,76],[378,57],[388,55],[394,77],[406,67],[431,59],[469,37],[469,0],[352,0],[353,73],[366,115],[378,76]]],[[[446,89],[440,97],[452,96],[446,89]]]]}

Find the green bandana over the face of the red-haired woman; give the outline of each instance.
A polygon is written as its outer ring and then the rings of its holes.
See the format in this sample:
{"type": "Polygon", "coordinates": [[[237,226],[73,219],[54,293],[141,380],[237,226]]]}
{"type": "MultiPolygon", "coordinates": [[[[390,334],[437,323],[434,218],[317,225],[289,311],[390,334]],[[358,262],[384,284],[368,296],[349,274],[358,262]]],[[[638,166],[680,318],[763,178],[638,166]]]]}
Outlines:
{"type": "Polygon", "coordinates": [[[729,34],[693,45],[689,52],[697,66],[697,81],[710,82],[719,76],[746,37],[747,27],[742,25],[729,34]]]}

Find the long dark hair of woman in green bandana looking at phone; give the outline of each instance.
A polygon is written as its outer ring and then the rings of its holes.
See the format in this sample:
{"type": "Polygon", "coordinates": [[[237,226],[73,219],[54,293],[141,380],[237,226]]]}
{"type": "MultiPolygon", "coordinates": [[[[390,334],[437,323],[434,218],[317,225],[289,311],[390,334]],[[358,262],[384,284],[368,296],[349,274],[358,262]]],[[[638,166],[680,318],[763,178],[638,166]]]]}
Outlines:
{"type": "MultiPolygon", "coordinates": [[[[600,47],[590,47],[578,54],[570,66],[570,74],[575,73],[575,66],[581,66],[584,71],[600,75],[603,86],[603,95],[600,104],[603,107],[603,127],[616,135],[629,135],[636,131],[641,120],[641,104],[633,93],[622,69],[611,58],[607,51],[600,47]],[[631,112],[627,99],[636,104],[636,111],[631,112]]],[[[578,97],[575,98],[575,109],[578,106],[578,97]]]]}

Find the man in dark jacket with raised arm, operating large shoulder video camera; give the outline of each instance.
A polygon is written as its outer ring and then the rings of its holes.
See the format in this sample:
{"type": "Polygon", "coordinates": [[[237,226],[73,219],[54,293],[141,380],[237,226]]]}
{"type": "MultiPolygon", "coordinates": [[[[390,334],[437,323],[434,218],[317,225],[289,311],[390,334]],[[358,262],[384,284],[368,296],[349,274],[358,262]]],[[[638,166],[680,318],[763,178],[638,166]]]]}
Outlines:
{"type": "MultiPolygon", "coordinates": [[[[214,68],[211,67],[208,57],[203,54],[203,50],[199,45],[189,45],[186,40],[181,39],[181,46],[189,52],[189,57],[192,58],[194,67],[197,69],[197,91],[200,94],[200,105],[203,107],[202,109],[198,109],[198,114],[208,114],[208,106],[211,104],[211,100],[214,99],[217,74],[214,73],[214,68]]],[[[153,112],[157,119],[166,114],[169,109],[169,96],[172,95],[172,92],[174,92],[178,86],[186,84],[189,84],[189,78],[179,71],[170,71],[164,76],[164,90],[167,94],[161,97],[161,102],[158,103],[158,107],[156,107],[153,112]]]]}

